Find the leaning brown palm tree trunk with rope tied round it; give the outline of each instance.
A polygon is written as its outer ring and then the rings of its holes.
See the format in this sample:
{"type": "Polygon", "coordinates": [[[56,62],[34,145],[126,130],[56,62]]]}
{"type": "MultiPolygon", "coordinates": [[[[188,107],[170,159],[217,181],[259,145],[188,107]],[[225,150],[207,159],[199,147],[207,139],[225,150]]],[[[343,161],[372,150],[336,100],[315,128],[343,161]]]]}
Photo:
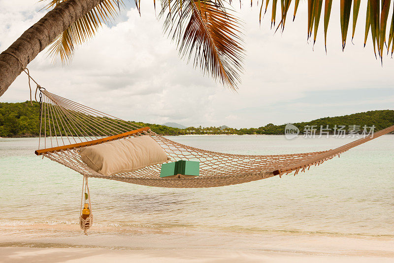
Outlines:
{"type": "MultiPolygon", "coordinates": [[[[6,51],[16,55],[26,67],[46,46],[101,0],[66,0],[26,30],[6,51]]],[[[0,54],[0,96],[23,68],[17,58],[0,54]]]]}

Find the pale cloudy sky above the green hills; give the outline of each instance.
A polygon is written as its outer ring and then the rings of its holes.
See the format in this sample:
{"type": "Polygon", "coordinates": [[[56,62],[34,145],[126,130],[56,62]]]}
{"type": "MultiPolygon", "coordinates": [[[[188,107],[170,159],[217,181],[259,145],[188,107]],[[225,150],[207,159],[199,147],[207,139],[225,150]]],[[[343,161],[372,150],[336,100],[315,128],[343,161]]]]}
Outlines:
{"type": "MultiPolygon", "coordinates": [[[[306,41],[306,2],[300,2],[296,21],[289,19],[285,32],[275,35],[268,16],[259,27],[259,8],[251,9],[248,1],[241,9],[236,5],[247,50],[237,92],[181,60],[163,34],[153,1],[141,2],[141,17],[128,4],[113,24],[77,49],[68,66],[53,65],[41,52],[28,67],[33,77],[50,92],[100,111],[159,124],[260,127],[394,108],[394,60],[384,57],[382,68],[371,42],[363,48],[365,0],[355,44],[349,39],[344,53],[339,1],[333,3],[327,55],[322,24],[314,49],[306,41]]],[[[45,14],[42,6],[37,0],[0,0],[1,51],[45,14]]],[[[0,102],[28,99],[27,76],[20,75],[0,102]]]]}

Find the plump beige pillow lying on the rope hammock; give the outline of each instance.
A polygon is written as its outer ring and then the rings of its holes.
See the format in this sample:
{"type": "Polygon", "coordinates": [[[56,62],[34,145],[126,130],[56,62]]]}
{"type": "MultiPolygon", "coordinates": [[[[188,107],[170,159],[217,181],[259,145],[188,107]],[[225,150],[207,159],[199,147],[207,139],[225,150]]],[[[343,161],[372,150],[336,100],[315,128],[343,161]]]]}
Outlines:
{"type": "Polygon", "coordinates": [[[106,176],[169,160],[160,145],[147,135],[84,147],[79,154],[90,168],[106,176]]]}

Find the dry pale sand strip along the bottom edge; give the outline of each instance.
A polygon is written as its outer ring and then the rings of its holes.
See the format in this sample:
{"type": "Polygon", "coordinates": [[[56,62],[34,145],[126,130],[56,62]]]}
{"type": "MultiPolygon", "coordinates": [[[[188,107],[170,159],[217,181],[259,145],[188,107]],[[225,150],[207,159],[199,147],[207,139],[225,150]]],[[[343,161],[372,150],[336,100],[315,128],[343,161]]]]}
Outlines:
{"type": "Polygon", "coordinates": [[[98,248],[16,248],[0,247],[4,263],[14,262],[134,262],[134,263],[391,263],[392,255],[371,255],[365,253],[299,253],[294,251],[218,251],[204,250],[109,250],[98,248]]]}

